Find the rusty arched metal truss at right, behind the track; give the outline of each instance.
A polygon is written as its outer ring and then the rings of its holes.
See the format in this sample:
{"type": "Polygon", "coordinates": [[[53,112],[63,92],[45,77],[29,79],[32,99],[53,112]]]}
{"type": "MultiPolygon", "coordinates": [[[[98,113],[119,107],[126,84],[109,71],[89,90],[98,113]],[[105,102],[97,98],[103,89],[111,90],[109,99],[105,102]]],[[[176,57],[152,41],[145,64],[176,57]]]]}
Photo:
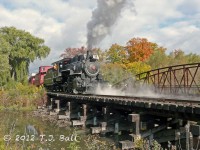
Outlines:
{"type": "Polygon", "coordinates": [[[137,74],[136,80],[152,85],[157,93],[200,94],[200,63],[150,70],[137,74]]]}

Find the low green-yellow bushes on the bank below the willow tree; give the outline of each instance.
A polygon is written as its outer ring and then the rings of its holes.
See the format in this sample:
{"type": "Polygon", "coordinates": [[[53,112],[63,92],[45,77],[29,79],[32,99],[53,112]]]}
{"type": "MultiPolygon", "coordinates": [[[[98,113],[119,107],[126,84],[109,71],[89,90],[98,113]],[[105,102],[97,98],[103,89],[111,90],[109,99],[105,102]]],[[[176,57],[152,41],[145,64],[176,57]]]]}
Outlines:
{"type": "Polygon", "coordinates": [[[0,109],[32,110],[45,100],[45,89],[28,83],[13,81],[0,90],[0,109]]]}

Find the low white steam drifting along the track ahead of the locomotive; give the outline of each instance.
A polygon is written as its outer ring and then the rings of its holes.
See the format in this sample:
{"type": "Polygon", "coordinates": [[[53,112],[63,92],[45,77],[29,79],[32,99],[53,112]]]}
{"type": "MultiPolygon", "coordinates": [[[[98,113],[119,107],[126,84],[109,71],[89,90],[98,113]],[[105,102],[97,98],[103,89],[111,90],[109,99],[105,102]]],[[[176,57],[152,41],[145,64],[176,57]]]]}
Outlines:
{"type": "Polygon", "coordinates": [[[131,96],[131,97],[148,97],[148,98],[166,98],[166,99],[179,99],[179,100],[199,100],[195,95],[183,95],[183,93],[159,93],[155,92],[155,88],[152,85],[140,84],[134,80],[128,80],[125,84],[121,84],[118,87],[111,85],[99,84],[95,88],[96,95],[115,95],[115,96],[131,96]]]}

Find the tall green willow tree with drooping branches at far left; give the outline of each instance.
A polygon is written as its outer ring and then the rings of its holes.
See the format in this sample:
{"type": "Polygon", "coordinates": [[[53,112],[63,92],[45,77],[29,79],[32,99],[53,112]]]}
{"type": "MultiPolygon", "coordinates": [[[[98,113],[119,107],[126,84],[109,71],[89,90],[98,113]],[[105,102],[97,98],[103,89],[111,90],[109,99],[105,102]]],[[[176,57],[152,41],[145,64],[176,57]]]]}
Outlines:
{"type": "Polygon", "coordinates": [[[8,52],[10,75],[16,81],[21,81],[28,75],[30,62],[45,58],[50,52],[50,48],[44,45],[43,39],[29,32],[15,27],[2,27],[0,34],[11,48],[8,52]]]}

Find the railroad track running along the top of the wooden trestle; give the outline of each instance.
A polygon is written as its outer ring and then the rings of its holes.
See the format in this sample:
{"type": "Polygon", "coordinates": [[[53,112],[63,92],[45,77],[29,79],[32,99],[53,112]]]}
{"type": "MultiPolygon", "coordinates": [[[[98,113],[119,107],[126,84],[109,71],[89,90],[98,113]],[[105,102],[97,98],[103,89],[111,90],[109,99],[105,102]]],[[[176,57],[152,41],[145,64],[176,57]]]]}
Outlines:
{"type": "Polygon", "coordinates": [[[200,107],[200,97],[174,97],[174,98],[165,98],[165,97],[136,97],[136,96],[116,96],[116,95],[94,95],[94,94],[85,94],[85,95],[72,95],[65,93],[54,93],[48,92],[48,95],[61,97],[61,98],[70,98],[70,99],[79,99],[79,100],[87,100],[87,101],[96,101],[96,102],[104,102],[104,103],[119,103],[127,105],[127,103],[132,102],[143,102],[148,104],[168,104],[168,105],[176,105],[176,106],[189,106],[189,107],[200,107]],[[123,103],[124,102],[124,103],[123,103]]]}

